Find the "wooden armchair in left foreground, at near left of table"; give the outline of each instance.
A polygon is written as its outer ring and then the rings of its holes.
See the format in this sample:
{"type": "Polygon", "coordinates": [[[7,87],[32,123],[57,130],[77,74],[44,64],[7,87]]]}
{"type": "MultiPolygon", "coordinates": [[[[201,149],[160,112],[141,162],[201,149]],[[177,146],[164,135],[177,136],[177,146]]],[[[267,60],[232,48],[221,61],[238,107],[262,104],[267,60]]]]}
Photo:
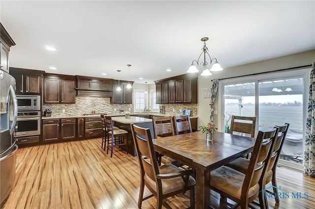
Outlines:
{"type": "Polygon", "coordinates": [[[150,129],[133,124],[131,132],[140,167],[138,208],[141,209],[142,202],[153,196],[157,198],[157,209],[161,209],[162,205],[170,208],[165,202],[166,198],[180,193],[185,194],[190,190],[190,208],[193,209],[195,180],[190,176],[192,171],[183,171],[172,164],[158,166],[150,129]],[[151,195],[143,197],[144,186],[150,190],[151,195]]]}

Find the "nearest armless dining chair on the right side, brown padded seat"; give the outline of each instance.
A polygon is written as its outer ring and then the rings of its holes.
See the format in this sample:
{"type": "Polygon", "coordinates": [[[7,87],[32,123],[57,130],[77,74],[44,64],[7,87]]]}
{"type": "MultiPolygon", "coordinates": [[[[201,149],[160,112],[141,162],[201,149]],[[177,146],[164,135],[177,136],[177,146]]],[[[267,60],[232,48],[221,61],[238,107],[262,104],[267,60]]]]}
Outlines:
{"type": "MultiPolygon", "coordinates": [[[[261,187],[259,180],[267,164],[264,162],[271,155],[278,129],[268,132],[258,132],[252,157],[245,174],[227,166],[211,172],[211,189],[220,193],[222,197],[236,202],[232,208],[241,206],[247,209],[249,203],[259,197],[261,187]]],[[[264,201],[259,199],[259,206],[263,208],[264,201]]]]}

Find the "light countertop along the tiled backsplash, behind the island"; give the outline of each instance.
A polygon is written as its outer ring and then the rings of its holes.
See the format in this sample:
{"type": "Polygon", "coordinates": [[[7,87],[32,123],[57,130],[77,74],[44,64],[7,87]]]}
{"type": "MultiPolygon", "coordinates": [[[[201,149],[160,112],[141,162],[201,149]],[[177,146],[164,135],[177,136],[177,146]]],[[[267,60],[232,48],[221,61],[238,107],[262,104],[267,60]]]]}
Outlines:
{"type": "MultiPolygon", "coordinates": [[[[131,115],[154,115],[154,116],[173,116],[173,115],[180,115],[180,114],[160,114],[158,112],[132,112],[131,115]]],[[[91,115],[83,115],[83,114],[77,114],[77,115],[54,115],[50,117],[44,117],[42,116],[41,119],[61,119],[61,118],[83,118],[83,117],[98,117],[100,115],[97,114],[91,114],[91,115]]],[[[123,116],[125,117],[124,114],[107,114],[107,116],[123,116]]],[[[190,116],[190,118],[198,118],[197,116],[190,116]]],[[[150,119],[151,120],[151,119],[150,119]]]]}

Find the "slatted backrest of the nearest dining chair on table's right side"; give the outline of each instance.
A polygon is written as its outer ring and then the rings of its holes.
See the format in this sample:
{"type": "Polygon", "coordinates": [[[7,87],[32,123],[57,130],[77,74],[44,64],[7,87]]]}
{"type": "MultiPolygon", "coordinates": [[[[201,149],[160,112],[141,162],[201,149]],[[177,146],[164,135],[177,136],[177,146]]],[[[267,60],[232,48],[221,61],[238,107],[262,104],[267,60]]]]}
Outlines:
{"type": "Polygon", "coordinates": [[[245,197],[248,195],[248,190],[260,180],[263,172],[266,170],[266,160],[269,161],[274,146],[275,138],[278,135],[278,128],[274,128],[268,132],[258,132],[255,145],[252,151],[252,157],[246,172],[243,182],[242,194],[245,197]],[[257,166],[259,165],[259,166],[257,166]]]}

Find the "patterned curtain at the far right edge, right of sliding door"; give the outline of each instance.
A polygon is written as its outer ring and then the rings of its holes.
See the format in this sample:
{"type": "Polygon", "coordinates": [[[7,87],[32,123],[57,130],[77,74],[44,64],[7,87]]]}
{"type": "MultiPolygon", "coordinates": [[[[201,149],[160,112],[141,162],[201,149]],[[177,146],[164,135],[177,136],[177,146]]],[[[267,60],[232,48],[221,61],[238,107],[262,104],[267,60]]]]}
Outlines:
{"type": "Polygon", "coordinates": [[[311,71],[304,150],[304,173],[315,177],[315,62],[311,71]]]}

